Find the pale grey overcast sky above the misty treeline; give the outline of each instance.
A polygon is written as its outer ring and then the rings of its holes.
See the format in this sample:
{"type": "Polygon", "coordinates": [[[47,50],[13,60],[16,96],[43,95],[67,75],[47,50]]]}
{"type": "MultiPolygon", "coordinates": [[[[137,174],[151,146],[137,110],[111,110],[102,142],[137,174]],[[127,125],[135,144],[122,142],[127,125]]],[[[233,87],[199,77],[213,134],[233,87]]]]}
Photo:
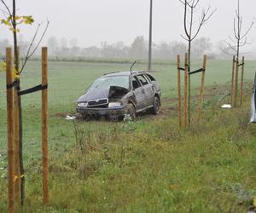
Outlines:
{"type": "MultiPolygon", "coordinates": [[[[6,2],[10,3],[9,0],[6,2]]],[[[149,0],[17,0],[17,4],[19,14],[32,14],[37,22],[48,18],[49,31],[44,40],[50,36],[59,39],[75,37],[80,46],[99,46],[104,41],[130,44],[137,36],[148,39],[149,0]]],[[[218,10],[199,37],[211,37],[212,42],[217,42],[232,35],[236,0],[201,0],[201,6],[218,10]]],[[[250,20],[256,19],[255,9],[255,0],[241,0],[245,28],[249,26],[250,20]]],[[[201,14],[201,9],[197,14],[201,14]]],[[[154,0],[153,25],[154,43],[182,41],[182,4],[178,0],[154,0]]],[[[35,24],[22,28],[21,33],[28,40],[35,28],[35,24]]],[[[2,26],[0,32],[1,38],[11,37],[2,26]]],[[[255,26],[249,37],[256,40],[255,26]]]]}

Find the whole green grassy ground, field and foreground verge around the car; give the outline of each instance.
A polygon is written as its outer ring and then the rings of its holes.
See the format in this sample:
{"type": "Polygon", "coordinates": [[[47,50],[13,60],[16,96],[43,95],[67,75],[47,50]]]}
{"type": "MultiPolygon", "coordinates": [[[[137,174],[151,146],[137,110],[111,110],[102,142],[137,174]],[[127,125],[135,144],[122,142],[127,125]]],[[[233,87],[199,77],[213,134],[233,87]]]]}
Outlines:
{"type": "MultiPolygon", "coordinates": [[[[128,123],[78,121],[79,146],[73,122],[63,116],[75,112],[75,101],[95,78],[130,64],[49,62],[50,204],[43,208],[39,92],[22,96],[26,204],[20,212],[245,212],[256,196],[256,126],[247,118],[255,65],[247,61],[243,107],[221,110],[216,103],[229,89],[231,63],[209,60],[203,122],[179,130],[177,66],[155,64],[160,115],[128,123]]],[[[40,84],[40,73],[40,62],[30,62],[21,89],[40,84]]],[[[194,95],[200,77],[192,76],[194,95]]],[[[0,212],[7,210],[4,88],[0,73],[0,212]]]]}

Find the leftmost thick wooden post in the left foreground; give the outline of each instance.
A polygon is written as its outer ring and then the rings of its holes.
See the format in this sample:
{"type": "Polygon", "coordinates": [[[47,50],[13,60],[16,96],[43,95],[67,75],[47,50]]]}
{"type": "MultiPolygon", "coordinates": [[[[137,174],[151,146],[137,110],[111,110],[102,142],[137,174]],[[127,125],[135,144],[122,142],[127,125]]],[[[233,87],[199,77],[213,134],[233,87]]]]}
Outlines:
{"type": "MultiPolygon", "coordinates": [[[[6,84],[14,81],[12,70],[12,49],[6,49],[6,84]]],[[[14,150],[14,89],[7,88],[7,130],[8,130],[8,212],[15,212],[15,150],[14,150]]]]}

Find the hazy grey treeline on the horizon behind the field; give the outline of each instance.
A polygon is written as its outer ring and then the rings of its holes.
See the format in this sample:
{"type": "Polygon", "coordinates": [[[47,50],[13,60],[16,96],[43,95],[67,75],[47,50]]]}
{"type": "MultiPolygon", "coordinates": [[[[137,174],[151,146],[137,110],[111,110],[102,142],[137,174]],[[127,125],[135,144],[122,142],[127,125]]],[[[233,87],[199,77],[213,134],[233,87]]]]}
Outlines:
{"type": "MultiPolygon", "coordinates": [[[[5,47],[11,45],[9,40],[0,40],[0,53],[4,55],[5,47]]],[[[19,46],[21,55],[26,55],[26,50],[30,43],[20,37],[19,46]]],[[[215,45],[212,44],[210,38],[201,37],[195,39],[192,43],[192,58],[201,59],[202,55],[207,54],[208,58],[214,59],[230,59],[230,55],[224,52],[229,52],[230,47],[226,46],[224,41],[220,41],[215,45]],[[224,52],[220,49],[224,49],[224,52]]],[[[146,61],[148,57],[148,42],[144,37],[136,37],[131,45],[125,45],[124,42],[117,43],[102,43],[100,47],[90,46],[87,48],[79,47],[75,38],[67,42],[66,38],[58,40],[56,37],[49,37],[47,40],[49,48],[50,60],[64,61],[87,61],[87,62],[122,62],[131,63],[132,59],[138,61],[146,61]]],[[[187,43],[173,41],[170,43],[161,42],[153,43],[153,59],[166,63],[166,60],[176,60],[177,55],[183,55],[186,52],[187,43]]],[[[40,55],[40,49],[36,52],[40,55]]],[[[254,55],[250,55],[254,58],[254,55]]],[[[37,57],[33,57],[37,60],[37,57]]]]}

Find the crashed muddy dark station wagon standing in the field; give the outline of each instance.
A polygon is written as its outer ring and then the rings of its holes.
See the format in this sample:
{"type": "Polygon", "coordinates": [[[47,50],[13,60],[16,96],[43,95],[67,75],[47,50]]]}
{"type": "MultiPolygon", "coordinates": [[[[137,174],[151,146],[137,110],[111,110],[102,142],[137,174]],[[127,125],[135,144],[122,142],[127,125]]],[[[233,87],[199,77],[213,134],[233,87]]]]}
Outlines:
{"type": "Polygon", "coordinates": [[[97,78],[79,97],[77,112],[83,118],[90,116],[122,118],[137,112],[160,111],[160,85],[148,72],[111,72],[97,78]]]}

